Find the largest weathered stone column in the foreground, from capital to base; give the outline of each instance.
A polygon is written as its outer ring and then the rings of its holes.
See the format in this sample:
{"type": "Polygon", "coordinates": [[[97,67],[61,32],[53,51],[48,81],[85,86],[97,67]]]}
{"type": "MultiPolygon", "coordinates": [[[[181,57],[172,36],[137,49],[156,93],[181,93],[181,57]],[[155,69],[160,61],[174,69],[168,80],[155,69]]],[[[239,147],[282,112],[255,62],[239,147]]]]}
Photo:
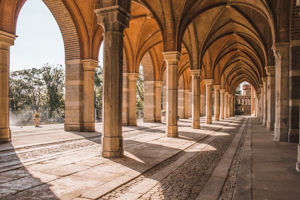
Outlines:
{"type": "Polygon", "coordinates": [[[132,16],[119,6],[94,10],[104,33],[102,156],[124,155],[122,137],[123,37],[132,16]]]}

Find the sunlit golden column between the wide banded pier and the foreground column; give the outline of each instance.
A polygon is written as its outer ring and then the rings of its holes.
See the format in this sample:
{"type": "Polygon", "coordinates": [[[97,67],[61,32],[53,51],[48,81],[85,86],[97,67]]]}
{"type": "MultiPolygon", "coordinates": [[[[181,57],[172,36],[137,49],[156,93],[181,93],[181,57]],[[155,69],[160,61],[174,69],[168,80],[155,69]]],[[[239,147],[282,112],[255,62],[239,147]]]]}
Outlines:
{"type": "Polygon", "coordinates": [[[98,61],[82,60],[83,65],[83,130],[95,131],[95,69],[98,61]]]}

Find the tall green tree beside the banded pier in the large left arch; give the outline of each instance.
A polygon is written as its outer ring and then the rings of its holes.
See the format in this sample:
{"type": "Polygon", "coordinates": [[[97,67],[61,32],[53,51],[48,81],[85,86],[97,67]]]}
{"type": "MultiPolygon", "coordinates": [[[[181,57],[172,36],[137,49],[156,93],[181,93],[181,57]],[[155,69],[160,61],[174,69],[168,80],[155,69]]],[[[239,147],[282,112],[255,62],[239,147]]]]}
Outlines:
{"type": "Polygon", "coordinates": [[[50,116],[55,108],[64,107],[64,68],[62,65],[49,66],[45,64],[42,68],[42,77],[46,87],[45,105],[50,107],[50,116]]]}

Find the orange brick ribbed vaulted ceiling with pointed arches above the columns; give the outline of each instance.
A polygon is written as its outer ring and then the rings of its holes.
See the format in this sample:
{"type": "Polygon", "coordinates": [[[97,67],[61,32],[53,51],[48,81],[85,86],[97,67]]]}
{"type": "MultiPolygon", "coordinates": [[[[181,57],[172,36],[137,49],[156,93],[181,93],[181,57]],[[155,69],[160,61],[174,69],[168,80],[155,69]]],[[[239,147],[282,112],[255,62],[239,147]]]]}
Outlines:
{"type": "MultiPolygon", "coordinates": [[[[60,27],[66,60],[98,59],[103,29],[93,12],[120,5],[133,15],[125,29],[127,72],[151,58],[153,79],[163,80],[162,52],[180,51],[178,79],[189,89],[189,69],[214,79],[228,91],[243,80],[254,88],[274,65],[272,44],[289,41],[291,1],[295,0],[43,0],[60,27]]],[[[0,30],[15,34],[26,0],[0,1],[0,30]]]]}

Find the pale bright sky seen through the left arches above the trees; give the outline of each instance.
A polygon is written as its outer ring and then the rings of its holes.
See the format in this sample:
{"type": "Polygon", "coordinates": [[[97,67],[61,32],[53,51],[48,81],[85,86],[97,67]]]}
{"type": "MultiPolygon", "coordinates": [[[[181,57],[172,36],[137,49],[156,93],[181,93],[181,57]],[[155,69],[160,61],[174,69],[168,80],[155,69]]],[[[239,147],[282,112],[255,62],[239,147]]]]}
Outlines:
{"type": "MultiPolygon", "coordinates": [[[[10,71],[64,66],[64,42],[58,25],[42,0],[27,0],[20,11],[15,45],[10,47],[10,71]]],[[[103,45],[102,45],[103,46],[103,45]]],[[[103,47],[99,61],[103,63],[103,47]]]]}

